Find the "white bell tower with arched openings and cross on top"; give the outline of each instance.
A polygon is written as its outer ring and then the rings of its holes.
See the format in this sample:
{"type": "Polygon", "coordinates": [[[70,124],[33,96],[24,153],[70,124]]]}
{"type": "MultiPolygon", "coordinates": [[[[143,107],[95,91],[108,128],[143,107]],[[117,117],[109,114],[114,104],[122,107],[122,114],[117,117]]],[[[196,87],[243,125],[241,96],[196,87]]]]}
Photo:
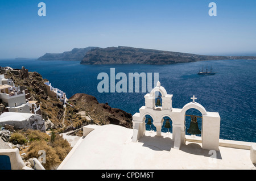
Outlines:
{"type": "MultiPolygon", "coordinates": [[[[167,94],[166,89],[158,81],[156,87],[150,94],[146,94],[145,106],[139,109],[139,112],[133,115],[133,142],[137,142],[146,132],[145,115],[150,115],[154,121],[152,124],[156,127],[156,136],[162,135],[163,117],[170,117],[172,122],[172,140],[174,148],[179,149],[181,144],[185,144],[185,113],[194,108],[202,114],[202,146],[203,149],[218,150],[220,137],[220,115],[218,112],[207,112],[205,108],[196,103],[195,96],[191,98],[191,103],[185,104],[182,109],[172,108],[172,94],[167,94]],[[155,92],[162,94],[162,106],[156,107],[155,92]]],[[[170,125],[168,126],[170,128],[170,125]]]]}

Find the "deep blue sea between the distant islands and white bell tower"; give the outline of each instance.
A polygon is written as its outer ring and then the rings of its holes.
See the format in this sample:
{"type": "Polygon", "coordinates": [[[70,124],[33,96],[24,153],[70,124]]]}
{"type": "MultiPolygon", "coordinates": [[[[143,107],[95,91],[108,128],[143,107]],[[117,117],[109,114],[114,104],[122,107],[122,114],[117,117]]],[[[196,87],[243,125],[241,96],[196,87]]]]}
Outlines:
{"type": "MultiPolygon", "coordinates": [[[[115,74],[159,73],[159,81],[168,94],[173,94],[172,107],[183,108],[196,96],[196,102],[221,117],[220,138],[256,142],[256,61],[216,60],[173,65],[81,65],[79,61],[0,60],[0,66],[37,71],[53,87],[66,92],[70,98],[76,93],[93,95],[100,103],[120,108],[132,115],[144,106],[146,92],[100,93],[97,90],[99,73],[115,68],[115,74]],[[212,67],[215,75],[198,75],[200,68],[212,67]]],[[[127,80],[128,81],[128,80],[127,80]]],[[[116,81],[118,82],[118,81],[116,81]]],[[[153,82],[154,83],[154,82],[153,82]]],[[[128,86],[128,85],[127,85],[128,86]]],[[[110,90],[110,89],[109,89],[110,90]]],[[[189,113],[198,113],[189,110],[189,113]],[[191,111],[191,112],[189,112],[191,111]]],[[[186,119],[189,128],[190,118],[186,119]]],[[[198,120],[201,129],[201,120],[198,120]]],[[[154,129],[154,126],[151,126],[154,129]]],[[[147,129],[151,129],[147,127],[147,129]]],[[[167,129],[162,129],[164,132],[167,129]]],[[[170,129],[171,131],[171,129],[170,129]]]]}

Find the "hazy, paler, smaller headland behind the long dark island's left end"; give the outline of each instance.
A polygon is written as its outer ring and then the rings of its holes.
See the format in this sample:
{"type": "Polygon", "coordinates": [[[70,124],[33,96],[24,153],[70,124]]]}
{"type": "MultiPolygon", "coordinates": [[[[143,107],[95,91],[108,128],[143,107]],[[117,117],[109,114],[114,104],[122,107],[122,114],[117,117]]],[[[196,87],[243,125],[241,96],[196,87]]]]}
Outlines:
{"type": "Polygon", "coordinates": [[[39,57],[38,60],[81,61],[85,54],[92,48],[96,47],[74,48],[71,51],[63,53],[46,53],[42,57],[39,57]]]}

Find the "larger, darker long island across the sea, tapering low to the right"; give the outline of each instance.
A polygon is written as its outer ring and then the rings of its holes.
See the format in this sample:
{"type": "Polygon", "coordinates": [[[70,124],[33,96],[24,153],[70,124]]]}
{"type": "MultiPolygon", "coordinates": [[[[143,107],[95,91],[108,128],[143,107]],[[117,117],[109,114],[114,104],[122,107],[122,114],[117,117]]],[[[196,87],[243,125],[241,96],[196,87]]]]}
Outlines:
{"type": "Polygon", "coordinates": [[[203,60],[255,59],[242,56],[204,56],[132,47],[94,48],[86,53],[81,64],[155,64],[166,65],[203,60]]]}

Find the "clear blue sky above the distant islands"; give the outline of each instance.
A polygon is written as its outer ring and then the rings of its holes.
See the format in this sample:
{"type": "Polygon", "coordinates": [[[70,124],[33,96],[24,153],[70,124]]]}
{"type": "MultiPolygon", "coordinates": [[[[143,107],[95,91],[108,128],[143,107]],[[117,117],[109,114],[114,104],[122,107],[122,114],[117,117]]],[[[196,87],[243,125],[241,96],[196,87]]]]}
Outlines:
{"type": "Polygon", "coordinates": [[[1,0],[0,35],[0,58],[119,45],[256,56],[256,1],[1,0]],[[209,16],[210,2],[217,16],[209,16]]]}

